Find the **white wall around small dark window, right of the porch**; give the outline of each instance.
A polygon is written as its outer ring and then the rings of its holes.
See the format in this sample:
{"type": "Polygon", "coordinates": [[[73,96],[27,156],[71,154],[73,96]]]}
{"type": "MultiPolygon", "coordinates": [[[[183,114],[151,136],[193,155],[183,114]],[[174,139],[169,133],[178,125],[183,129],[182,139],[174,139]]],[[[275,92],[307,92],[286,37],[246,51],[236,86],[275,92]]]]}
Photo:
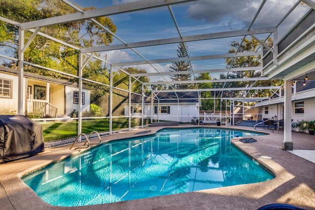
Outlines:
{"type": "MultiPolygon", "coordinates": [[[[71,110],[73,109],[78,110],[79,108],[79,104],[73,103],[73,91],[78,91],[79,89],[66,86],[64,90],[65,90],[64,94],[65,94],[65,104],[66,104],[65,113],[67,115],[70,115],[71,110]]],[[[90,112],[91,90],[83,89],[82,92],[85,92],[85,103],[82,104],[82,112],[84,111],[90,112]]]]}

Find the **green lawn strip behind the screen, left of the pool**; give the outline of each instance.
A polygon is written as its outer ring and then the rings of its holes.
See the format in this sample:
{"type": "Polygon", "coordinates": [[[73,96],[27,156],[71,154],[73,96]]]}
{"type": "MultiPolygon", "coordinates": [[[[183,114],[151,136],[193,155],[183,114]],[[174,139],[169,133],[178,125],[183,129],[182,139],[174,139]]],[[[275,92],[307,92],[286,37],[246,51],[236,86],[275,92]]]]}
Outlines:
{"type": "MultiPolygon", "coordinates": [[[[145,123],[150,123],[146,120],[145,123]]],[[[67,122],[40,122],[43,128],[44,141],[54,141],[78,136],[78,121],[67,122]]],[[[128,128],[128,118],[116,118],[112,123],[113,130],[128,128]]],[[[141,119],[132,119],[131,126],[141,125],[141,119]]],[[[82,133],[90,134],[92,131],[109,131],[109,119],[82,120],[82,133]]]]}

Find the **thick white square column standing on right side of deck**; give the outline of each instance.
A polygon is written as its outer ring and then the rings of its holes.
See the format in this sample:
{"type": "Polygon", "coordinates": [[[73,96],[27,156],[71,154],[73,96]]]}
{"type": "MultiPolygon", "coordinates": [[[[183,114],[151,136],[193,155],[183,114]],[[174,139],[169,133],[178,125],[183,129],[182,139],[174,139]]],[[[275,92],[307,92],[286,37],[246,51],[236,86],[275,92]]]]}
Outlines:
{"type": "Polygon", "coordinates": [[[284,81],[284,141],[282,143],[283,150],[293,150],[291,118],[292,118],[292,82],[284,81]]]}

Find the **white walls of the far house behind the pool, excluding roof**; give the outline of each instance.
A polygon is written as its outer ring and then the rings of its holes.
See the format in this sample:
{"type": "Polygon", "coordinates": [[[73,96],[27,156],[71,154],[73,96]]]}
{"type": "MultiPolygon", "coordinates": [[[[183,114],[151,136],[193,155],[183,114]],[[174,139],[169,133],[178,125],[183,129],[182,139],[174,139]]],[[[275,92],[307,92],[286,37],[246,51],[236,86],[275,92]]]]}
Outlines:
{"type": "MultiPolygon", "coordinates": [[[[125,105],[125,116],[128,116],[129,109],[128,104],[125,105]]],[[[180,121],[180,122],[191,122],[193,117],[199,116],[199,108],[196,103],[182,103],[182,104],[172,104],[172,103],[163,103],[159,104],[159,106],[169,106],[170,113],[159,113],[154,114],[154,107],[158,106],[158,104],[153,104],[153,111],[151,112],[151,104],[145,104],[144,107],[144,117],[151,118],[151,113],[153,113],[153,120],[166,120],[166,121],[180,121]],[[182,115],[182,109],[187,108],[188,112],[182,115]]],[[[141,107],[141,104],[131,104],[131,107],[141,107]]],[[[131,117],[141,117],[141,113],[133,113],[131,117]]]]}

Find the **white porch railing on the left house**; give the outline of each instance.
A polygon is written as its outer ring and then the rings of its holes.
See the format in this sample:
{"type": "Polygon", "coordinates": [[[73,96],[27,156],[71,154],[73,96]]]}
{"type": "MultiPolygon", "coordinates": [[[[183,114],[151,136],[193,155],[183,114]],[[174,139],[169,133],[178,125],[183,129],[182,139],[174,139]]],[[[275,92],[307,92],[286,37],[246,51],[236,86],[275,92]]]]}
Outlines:
{"type": "Polygon", "coordinates": [[[56,118],[58,108],[46,101],[28,99],[27,110],[28,113],[31,112],[40,113],[42,118],[44,117],[56,118]]]}

